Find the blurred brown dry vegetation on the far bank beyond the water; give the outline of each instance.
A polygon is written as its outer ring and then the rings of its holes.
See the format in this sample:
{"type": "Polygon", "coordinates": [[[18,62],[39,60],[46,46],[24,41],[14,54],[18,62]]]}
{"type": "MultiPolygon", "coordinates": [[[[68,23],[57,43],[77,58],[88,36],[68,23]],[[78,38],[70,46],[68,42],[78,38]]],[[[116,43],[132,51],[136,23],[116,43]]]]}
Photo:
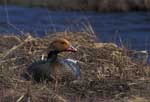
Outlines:
{"type": "MultiPolygon", "coordinates": [[[[150,0],[7,0],[8,4],[41,6],[61,10],[139,11],[150,10],[150,0]]],[[[4,4],[4,0],[0,0],[4,4]]]]}

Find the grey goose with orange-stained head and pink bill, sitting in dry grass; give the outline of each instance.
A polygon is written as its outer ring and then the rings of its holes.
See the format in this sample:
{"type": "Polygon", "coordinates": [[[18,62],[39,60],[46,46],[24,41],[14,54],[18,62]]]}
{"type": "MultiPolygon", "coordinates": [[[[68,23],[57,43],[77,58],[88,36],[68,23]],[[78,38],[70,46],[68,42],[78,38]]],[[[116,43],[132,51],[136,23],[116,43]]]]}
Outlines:
{"type": "Polygon", "coordinates": [[[80,79],[80,68],[76,60],[60,59],[58,54],[61,52],[77,52],[77,49],[64,38],[53,40],[48,47],[46,60],[33,62],[27,68],[27,73],[36,82],[51,80],[71,80],[80,79]]]}

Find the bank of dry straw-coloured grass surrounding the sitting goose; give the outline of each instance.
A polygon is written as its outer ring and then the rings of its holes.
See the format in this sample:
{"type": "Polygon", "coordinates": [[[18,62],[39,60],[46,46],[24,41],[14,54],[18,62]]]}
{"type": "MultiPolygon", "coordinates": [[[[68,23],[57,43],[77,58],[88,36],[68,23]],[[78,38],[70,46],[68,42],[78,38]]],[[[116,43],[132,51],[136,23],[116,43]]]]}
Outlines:
{"type": "Polygon", "coordinates": [[[58,32],[44,38],[31,35],[0,36],[1,102],[148,102],[150,67],[133,62],[127,49],[113,43],[98,43],[96,36],[84,32],[58,32]],[[76,59],[81,79],[61,82],[58,91],[52,82],[34,83],[21,78],[32,60],[46,56],[48,44],[65,37],[78,48],[77,53],[60,57],[76,59]]]}

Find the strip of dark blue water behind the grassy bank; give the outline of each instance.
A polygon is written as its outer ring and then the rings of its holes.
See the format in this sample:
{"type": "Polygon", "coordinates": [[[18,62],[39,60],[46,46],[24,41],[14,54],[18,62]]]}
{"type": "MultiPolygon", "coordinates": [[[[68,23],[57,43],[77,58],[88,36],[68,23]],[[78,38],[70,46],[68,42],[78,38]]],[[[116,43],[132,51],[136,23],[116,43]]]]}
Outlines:
{"type": "Polygon", "coordinates": [[[100,41],[124,44],[131,49],[150,50],[150,12],[96,13],[50,11],[42,8],[0,6],[0,33],[84,31],[90,23],[100,41]]]}

